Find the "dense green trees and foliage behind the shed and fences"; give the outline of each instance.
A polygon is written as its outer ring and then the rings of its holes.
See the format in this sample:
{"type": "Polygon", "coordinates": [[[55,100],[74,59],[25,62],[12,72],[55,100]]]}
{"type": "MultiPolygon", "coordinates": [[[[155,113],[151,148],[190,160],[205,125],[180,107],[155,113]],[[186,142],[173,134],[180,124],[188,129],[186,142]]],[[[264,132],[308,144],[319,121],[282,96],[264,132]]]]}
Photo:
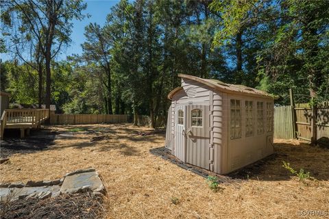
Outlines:
{"type": "MultiPolygon", "coordinates": [[[[53,1],[40,1],[38,8],[16,2],[23,8],[5,1],[1,11],[0,49],[12,43],[33,57],[1,64],[1,89],[21,103],[37,103],[41,89],[44,103],[47,37],[40,24],[53,1]],[[22,14],[25,10],[36,13],[22,14]],[[24,22],[16,23],[12,13],[24,22]],[[25,18],[33,18],[40,38],[25,18]]],[[[52,54],[60,51],[60,42],[69,44],[72,18],[84,18],[85,7],[82,1],[64,1],[52,54]]],[[[68,114],[146,114],[154,121],[167,116],[167,94],[180,86],[178,74],[187,73],[265,90],[280,96],[278,104],[289,104],[293,88],[295,102],[317,104],[329,99],[328,8],[329,1],[122,0],[104,25],[86,26],[82,55],[52,59],[51,103],[68,114]]]]}

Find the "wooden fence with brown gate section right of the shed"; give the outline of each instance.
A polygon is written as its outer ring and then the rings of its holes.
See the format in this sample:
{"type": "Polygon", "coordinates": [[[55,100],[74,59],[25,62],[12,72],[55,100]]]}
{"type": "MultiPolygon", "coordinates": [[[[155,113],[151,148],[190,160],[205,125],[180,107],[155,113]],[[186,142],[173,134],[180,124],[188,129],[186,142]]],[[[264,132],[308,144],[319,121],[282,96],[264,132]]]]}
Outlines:
{"type": "Polygon", "coordinates": [[[296,103],[295,107],[282,106],[274,109],[274,137],[310,141],[329,138],[329,104],[321,103],[315,108],[308,103],[296,103]],[[313,112],[312,112],[313,111],[313,112]],[[312,114],[316,120],[312,121],[312,114]],[[314,125],[313,125],[314,124],[314,125]],[[314,128],[312,129],[312,125],[314,128]]]}

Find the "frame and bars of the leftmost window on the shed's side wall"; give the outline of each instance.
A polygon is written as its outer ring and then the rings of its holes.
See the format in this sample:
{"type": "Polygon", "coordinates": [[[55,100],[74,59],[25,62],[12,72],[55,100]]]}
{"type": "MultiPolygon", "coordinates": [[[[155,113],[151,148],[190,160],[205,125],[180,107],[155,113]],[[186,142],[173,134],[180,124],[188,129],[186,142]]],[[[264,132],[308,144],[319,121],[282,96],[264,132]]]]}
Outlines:
{"type": "Polygon", "coordinates": [[[230,139],[239,139],[242,138],[242,101],[241,99],[230,99],[230,139]],[[234,107],[232,106],[232,101],[234,101],[234,107]],[[236,103],[239,101],[239,107],[237,107],[236,103]],[[232,111],[234,111],[234,117],[232,117],[232,111]],[[237,112],[239,111],[239,116],[236,117],[237,112]],[[234,120],[234,125],[232,127],[232,120],[234,120]],[[239,121],[239,127],[237,126],[238,123],[236,121],[239,121]],[[238,132],[237,130],[240,131],[238,132]],[[234,133],[232,133],[232,130],[234,130],[234,133]],[[239,135],[237,134],[239,133],[239,135]]]}

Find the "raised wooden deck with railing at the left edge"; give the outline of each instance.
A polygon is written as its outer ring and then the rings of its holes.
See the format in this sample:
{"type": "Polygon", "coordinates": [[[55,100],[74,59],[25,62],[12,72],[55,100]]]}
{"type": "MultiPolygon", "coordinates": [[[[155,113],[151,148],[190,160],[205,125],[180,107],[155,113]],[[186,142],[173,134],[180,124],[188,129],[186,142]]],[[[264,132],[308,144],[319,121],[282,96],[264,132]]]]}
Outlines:
{"type": "Polygon", "coordinates": [[[49,118],[49,110],[5,110],[1,116],[1,139],[5,129],[20,129],[21,138],[24,138],[25,131],[29,134],[29,129],[38,129],[40,125],[49,118]]]}

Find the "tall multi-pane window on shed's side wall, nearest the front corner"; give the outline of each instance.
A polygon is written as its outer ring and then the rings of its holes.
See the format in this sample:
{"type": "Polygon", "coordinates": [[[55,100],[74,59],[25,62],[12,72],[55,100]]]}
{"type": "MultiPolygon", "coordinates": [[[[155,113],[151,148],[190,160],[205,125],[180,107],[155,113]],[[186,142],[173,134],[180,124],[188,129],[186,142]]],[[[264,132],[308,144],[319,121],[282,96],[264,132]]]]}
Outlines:
{"type": "Polygon", "coordinates": [[[231,139],[241,138],[241,103],[231,99],[231,139]]]}

